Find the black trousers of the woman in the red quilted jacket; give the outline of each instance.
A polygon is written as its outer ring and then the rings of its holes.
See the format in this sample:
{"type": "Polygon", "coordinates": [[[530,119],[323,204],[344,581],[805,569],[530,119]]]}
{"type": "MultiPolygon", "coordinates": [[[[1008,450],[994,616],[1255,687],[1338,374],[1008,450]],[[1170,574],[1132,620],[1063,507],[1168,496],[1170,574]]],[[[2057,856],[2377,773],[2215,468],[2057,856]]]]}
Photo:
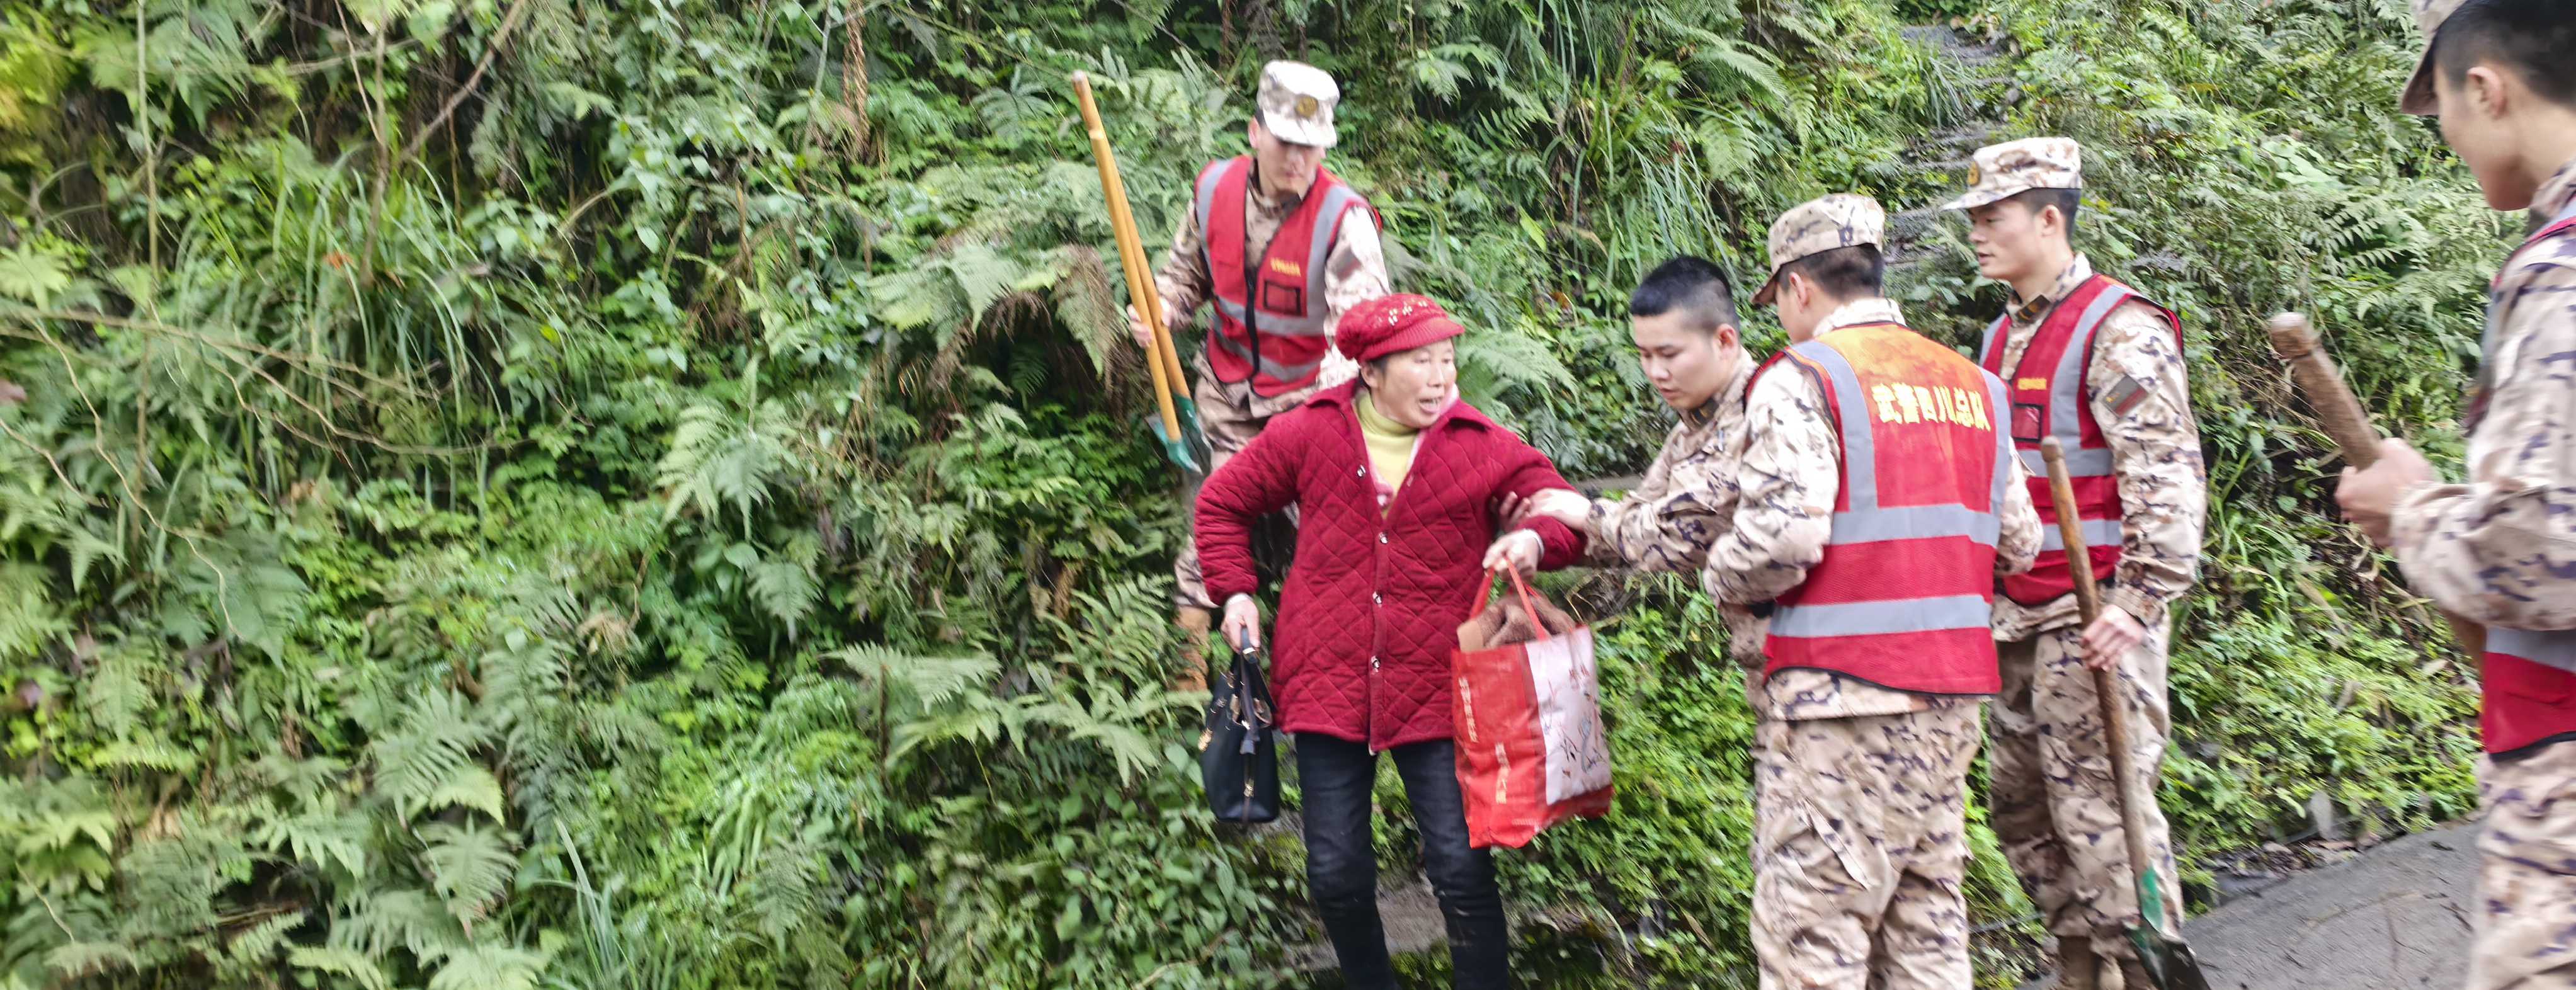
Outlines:
{"type": "MultiPolygon", "coordinates": [[[[1458,794],[1458,758],[1448,740],[1386,750],[1396,758],[1404,797],[1422,830],[1422,869],[1448,923],[1450,964],[1461,990],[1512,985],[1512,941],[1502,920],[1494,856],[1466,843],[1466,799],[1458,794]]],[[[1324,933],[1352,990],[1396,990],[1378,920],[1378,856],[1368,843],[1368,794],[1378,755],[1363,742],[1298,732],[1298,786],[1306,797],[1306,884],[1324,915],[1324,933]]]]}

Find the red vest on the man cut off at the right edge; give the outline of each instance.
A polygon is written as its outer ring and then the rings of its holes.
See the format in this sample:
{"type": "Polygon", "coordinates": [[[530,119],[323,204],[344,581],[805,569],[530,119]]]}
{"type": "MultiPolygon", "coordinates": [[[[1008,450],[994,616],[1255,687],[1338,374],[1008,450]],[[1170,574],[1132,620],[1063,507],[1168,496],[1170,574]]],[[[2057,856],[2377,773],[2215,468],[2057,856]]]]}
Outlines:
{"type": "MultiPolygon", "coordinates": [[[[2566,232],[2576,232],[2576,206],[2532,235],[2532,240],[2524,240],[2514,253],[2519,255],[2522,250],[2566,232]]],[[[2504,266],[2512,268],[2512,260],[2504,266]]],[[[2496,281],[2504,281],[2501,268],[2496,271],[2496,281]]],[[[2486,317],[2486,358],[2494,361],[2494,299],[2488,299],[2486,317]]],[[[2483,382],[2478,392],[2478,400],[2470,402],[2470,431],[2476,431],[2478,420],[2486,418],[2483,382]]],[[[2488,626],[2478,683],[2486,691],[2486,704],[2478,712],[2478,727],[2483,730],[2481,735],[2486,735],[2488,753],[2514,753],[2576,737],[2576,629],[2532,632],[2488,626]]]]}

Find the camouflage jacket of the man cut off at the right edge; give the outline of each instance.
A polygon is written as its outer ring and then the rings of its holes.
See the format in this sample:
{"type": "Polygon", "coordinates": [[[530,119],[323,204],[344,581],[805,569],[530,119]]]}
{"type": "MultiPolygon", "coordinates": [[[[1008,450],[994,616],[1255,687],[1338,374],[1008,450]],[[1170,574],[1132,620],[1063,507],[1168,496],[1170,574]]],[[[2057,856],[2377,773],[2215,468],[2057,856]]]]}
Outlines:
{"type": "MultiPolygon", "coordinates": [[[[2535,209],[2576,204],[2576,162],[2535,209]]],[[[2486,299],[2468,482],[2424,485],[2391,513],[2406,583],[2465,619],[2576,629],[2576,235],[2517,253],[2486,299]]]]}

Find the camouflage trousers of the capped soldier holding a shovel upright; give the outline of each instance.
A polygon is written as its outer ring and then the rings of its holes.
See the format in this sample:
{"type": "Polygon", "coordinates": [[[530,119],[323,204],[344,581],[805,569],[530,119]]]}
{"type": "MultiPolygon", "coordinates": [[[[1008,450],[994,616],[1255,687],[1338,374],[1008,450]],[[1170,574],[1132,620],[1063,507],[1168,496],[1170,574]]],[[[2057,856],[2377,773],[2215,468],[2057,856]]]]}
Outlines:
{"type": "MultiPolygon", "coordinates": [[[[2110,773],[2110,742],[2092,670],[2084,670],[2084,629],[2048,629],[2022,642],[1999,642],[2004,696],[1994,704],[1994,755],[1989,794],[1994,835],[2022,874],[2030,900],[2058,938],[2092,938],[2105,959],[2136,959],[2123,928],[2138,918],[2138,882],[2120,835],[2120,789],[2110,773]]],[[[2174,843],[2156,807],[2156,768],[2172,730],[2164,696],[2172,624],[2146,632],[2146,642],[2120,657],[2128,701],[2130,763],[2146,776],[2146,848],[2164,877],[2164,918],[2182,923],[2182,884],[2174,843]]],[[[2177,928],[2179,931],[2179,928],[2177,928]]]]}

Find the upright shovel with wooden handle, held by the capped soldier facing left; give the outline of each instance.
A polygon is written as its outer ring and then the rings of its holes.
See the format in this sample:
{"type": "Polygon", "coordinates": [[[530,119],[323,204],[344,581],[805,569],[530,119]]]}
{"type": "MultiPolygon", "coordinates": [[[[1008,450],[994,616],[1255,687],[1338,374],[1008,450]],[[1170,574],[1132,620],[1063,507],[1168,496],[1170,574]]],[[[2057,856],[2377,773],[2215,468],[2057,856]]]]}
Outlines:
{"type": "MultiPolygon", "coordinates": [[[[2084,521],[2076,518],[2076,490],[2066,480],[2066,449],[2050,436],[2040,441],[2040,456],[2048,459],[2048,495],[2058,508],[2058,534],[2066,536],[2066,559],[2076,562],[2076,567],[2069,567],[2076,580],[2076,611],[2084,616],[2084,626],[2092,626],[2094,616],[2102,614],[2102,590],[2092,583],[2092,567],[2084,567],[2089,549],[2084,547],[2084,521]]],[[[2164,923],[2164,884],[2172,877],[2159,877],[2156,859],[2146,851],[2146,784],[2138,781],[2128,753],[2128,706],[2120,704],[2120,670],[2094,670],[2094,696],[2102,699],[2102,727],[2110,735],[2110,773],[2120,784],[2120,833],[2128,840],[2128,871],[2138,879],[2138,915],[2143,923],[2128,931],[2128,941],[2138,946],[2138,964],[2159,990],[2210,990],[2210,980],[2200,975],[2200,959],[2192,956],[2192,946],[2179,933],[2166,931],[2164,923]]]]}

